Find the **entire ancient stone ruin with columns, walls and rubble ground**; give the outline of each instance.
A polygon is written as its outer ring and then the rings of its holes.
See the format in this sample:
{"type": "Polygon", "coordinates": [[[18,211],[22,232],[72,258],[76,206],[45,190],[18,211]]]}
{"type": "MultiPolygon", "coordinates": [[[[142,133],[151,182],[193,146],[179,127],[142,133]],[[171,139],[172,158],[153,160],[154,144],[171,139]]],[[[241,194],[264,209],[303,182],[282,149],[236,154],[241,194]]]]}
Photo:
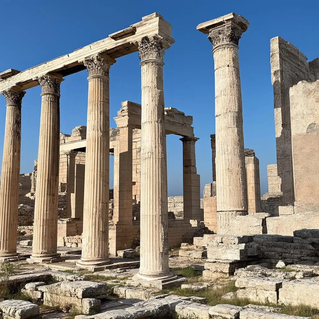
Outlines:
{"type": "Polygon", "coordinates": [[[0,317],[317,318],[319,58],[307,62],[289,42],[270,41],[277,163],[267,166],[261,197],[259,159],[243,136],[238,50],[248,26],[236,13],[197,26],[215,67],[203,198],[193,115],[164,103],[164,54],[174,40],[158,13],[28,70],[0,73],[0,317]],[[133,52],[142,103],[123,96],[110,128],[109,70],[133,52]],[[62,133],[60,85],[82,70],[87,125],[62,133]],[[20,174],[21,107],[37,85],[38,158],[20,174]],[[176,197],[167,195],[169,134],[182,142],[176,197]]]}

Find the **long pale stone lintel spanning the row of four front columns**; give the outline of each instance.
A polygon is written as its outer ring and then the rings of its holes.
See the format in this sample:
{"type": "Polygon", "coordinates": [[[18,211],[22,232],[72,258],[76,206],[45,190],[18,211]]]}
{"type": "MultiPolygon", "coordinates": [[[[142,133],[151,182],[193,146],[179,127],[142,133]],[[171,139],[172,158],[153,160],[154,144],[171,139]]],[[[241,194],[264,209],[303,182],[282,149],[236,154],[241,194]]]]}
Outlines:
{"type": "Polygon", "coordinates": [[[158,13],[153,13],[144,17],[142,21],[131,25],[127,29],[121,30],[119,33],[112,33],[111,35],[113,38],[108,37],[96,41],[83,48],[76,49],[69,54],[57,57],[17,74],[13,74],[13,72],[10,77],[0,81],[0,92],[7,90],[14,85],[20,85],[22,90],[37,86],[39,83],[34,78],[43,74],[55,72],[62,76],[67,76],[85,70],[85,66],[78,61],[83,61],[89,56],[106,53],[111,58],[116,59],[120,56],[137,52],[137,44],[132,45],[131,43],[137,43],[145,36],[149,38],[159,36],[166,39],[168,45],[174,43],[174,39],[171,37],[171,25],[163,20],[158,13]],[[125,31],[127,29],[136,29],[136,32],[120,35],[121,33],[127,33],[128,31],[125,31]],[[118,36],[116,36],[116,34],[118,36]],[[114,37],[116,39],[114,39],[114,37]]]}

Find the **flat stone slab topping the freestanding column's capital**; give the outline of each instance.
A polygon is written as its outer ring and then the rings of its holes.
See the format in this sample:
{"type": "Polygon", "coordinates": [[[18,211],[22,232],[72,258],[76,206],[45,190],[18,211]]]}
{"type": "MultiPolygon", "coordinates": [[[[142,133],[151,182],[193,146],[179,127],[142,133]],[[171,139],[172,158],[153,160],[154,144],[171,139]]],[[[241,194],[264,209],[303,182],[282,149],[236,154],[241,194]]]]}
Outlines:
{"type": "Polygon", "coordinates": [[[232,25],[242,29],[245,32],[249,26],[249,22],[242,16],[232,12],[217,19],[212,19],[197,26],[197,30],[208,34],[213,29],[221,29],[226,25],[232,25]]]}

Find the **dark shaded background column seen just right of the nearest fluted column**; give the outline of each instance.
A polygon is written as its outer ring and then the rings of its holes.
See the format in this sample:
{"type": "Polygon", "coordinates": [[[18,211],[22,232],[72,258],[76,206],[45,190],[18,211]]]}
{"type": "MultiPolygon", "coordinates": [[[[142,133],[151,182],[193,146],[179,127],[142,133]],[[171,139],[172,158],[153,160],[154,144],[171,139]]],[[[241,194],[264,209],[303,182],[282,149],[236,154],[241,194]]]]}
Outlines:
{"type": "Polygon", "coordinates": [[[198,137],[185,136],[183,142],[184,219],[203,220],[200,211],[200,180],[196,170],[195,143],[198,137]]]}

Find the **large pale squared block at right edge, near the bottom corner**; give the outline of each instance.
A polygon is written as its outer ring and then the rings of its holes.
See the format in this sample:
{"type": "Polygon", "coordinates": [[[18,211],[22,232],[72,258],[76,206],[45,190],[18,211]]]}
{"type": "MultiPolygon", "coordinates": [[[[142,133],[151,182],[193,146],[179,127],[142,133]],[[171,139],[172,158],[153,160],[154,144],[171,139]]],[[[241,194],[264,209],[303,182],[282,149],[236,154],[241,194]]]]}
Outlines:
{"type": "Polygon", "coordinates": [[[283,282],[279,289],[279,301],[284,304],[298,305],[300,303],[319,308],[319,281],[303,278],[283,282]]]}

